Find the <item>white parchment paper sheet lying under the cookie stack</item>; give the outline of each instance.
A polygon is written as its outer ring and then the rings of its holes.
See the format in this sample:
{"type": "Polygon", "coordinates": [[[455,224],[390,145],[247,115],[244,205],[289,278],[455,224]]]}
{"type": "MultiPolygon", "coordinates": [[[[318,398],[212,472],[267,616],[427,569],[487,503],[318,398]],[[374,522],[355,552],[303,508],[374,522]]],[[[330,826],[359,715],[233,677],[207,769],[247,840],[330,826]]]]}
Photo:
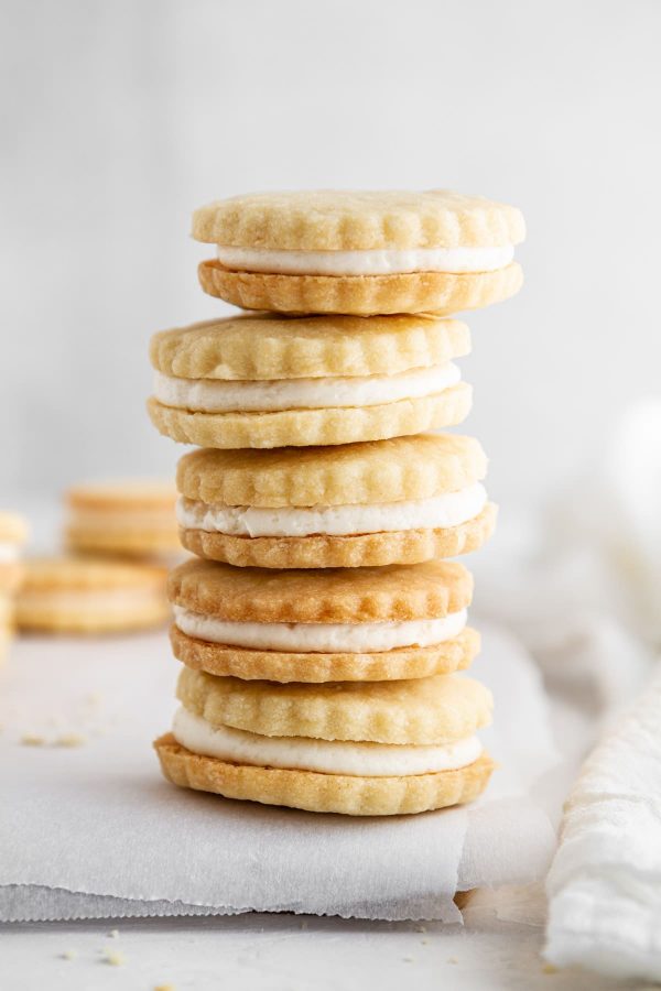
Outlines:
{"type": "Polygon", "coordinates": [[[0,919],[259,910],[458,921],[457,890],[543,876],[555,834],[535,795],[557,761],[545,697],[517,643],[485,634],[474,673],[496,696],[485,742],[501,762],[486,796],[367,820],[163,781],[151,741],[170,726],[178,669],[164,634],[19,642],[0,675],[0,919]]]}

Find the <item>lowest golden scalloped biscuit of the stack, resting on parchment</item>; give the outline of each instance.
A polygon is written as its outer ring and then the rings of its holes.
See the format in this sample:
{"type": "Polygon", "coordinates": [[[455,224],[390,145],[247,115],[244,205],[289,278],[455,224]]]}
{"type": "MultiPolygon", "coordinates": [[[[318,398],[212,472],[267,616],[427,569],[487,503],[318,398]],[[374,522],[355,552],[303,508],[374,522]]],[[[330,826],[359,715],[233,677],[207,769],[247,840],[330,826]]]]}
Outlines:
{"type": "Polygon", "coordinates": [[[181,747],[172,733],[154,741],[164,776],[180,787],[226,798],[348,816],[394,816],[473,802],[495,764],[483,754],[465,767],[400,777],[360,777],[232,764],[181,747]]]}

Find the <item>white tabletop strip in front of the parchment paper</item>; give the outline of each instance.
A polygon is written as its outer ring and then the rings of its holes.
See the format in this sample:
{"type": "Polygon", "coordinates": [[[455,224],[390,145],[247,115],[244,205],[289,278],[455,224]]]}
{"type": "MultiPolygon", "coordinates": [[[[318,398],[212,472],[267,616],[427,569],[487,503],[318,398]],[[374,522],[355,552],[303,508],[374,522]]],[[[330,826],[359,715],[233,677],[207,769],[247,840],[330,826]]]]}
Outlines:
{"type": "MultiPolygon", "coordinates": [[[[598,991],[603,978],[550,973],[543,929],[250,914],[234,917],[35,923],[0,927],[2,991],[344,991],[402,988],[598,991]],[[118,935],[109,934],[117,928],[118,935]],[[104,958],[110,948],[120,966],[104,958]],[[73,950],[73,960],[63,954],[73,950]]],[[[631,984],[609,984],[615,991],[631,984]]],[[[639,985],[640,987],[640,985],[639,985]]]]}

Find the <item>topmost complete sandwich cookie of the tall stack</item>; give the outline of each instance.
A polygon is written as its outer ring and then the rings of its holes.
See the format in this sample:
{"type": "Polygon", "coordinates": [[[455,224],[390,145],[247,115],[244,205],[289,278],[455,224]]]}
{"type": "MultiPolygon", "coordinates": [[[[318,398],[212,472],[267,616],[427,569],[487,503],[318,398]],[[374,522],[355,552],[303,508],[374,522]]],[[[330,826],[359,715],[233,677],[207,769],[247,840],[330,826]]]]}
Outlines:
{"type": "Polygon", "coordinates": [[[246,309],[452,314],[522,284],[514,207],[447,189],[262,193],[196,210],[202,287],[246,309]]]}

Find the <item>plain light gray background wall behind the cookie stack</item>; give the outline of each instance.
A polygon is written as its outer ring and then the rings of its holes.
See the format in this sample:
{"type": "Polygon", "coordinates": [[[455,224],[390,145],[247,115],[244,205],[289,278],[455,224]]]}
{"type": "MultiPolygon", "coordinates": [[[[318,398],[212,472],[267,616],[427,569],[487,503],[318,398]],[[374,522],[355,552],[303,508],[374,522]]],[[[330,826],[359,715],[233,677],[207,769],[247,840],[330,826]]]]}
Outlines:
{"type": "Polygon", "coordinates": [[[521,295],[468,317],[466,429],[533,502],[658,388],[661,3],[0,4],[2,501],[170,473],[150,334],[225,309],[192,209],[447,186],[520,206],[521,295]]]}

